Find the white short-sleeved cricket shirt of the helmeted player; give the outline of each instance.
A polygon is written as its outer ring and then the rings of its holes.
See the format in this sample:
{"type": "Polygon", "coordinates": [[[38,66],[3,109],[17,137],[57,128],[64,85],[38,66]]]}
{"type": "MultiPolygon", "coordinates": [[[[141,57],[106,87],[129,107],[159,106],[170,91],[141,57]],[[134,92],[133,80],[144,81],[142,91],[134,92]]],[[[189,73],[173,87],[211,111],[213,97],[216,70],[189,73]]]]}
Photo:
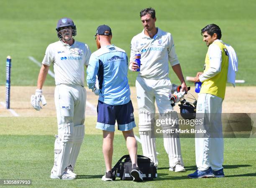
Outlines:
{"type": "Polygon", "coordinates": [[[58,41],[47,47],[42,64],[50,66],[53,63],[56,85],[84,86],[84,65],[89,64],[90,55],[87,44],[74,41],[69,46],[58,41]]]}

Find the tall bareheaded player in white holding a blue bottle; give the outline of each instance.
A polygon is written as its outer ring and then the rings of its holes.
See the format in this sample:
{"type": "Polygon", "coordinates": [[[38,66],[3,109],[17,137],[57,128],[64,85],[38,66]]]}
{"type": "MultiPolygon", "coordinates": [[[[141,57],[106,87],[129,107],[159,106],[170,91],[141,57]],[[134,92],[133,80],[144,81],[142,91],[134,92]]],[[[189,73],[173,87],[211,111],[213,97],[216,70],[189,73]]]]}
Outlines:
{"type": "MultiPolygon", "coordinates": [[[[187,91],[179,60],[175,53],[172,35],[156,28],[155,10],[146,8],[141,10],[141,22],[144,30],[131,40],[131,58],[129,69],[136,71],[138,65],[135,54],[141,53],[141,71],[136,79],[137,100],[139,108],[139,133],[143,155],[151,158],[157,166],[156,146],[154,133],[151,132],[151,115],[155,113],[155,100],[159,113],[169,118],[177,118],[169,101],[172,83],[169,80],[168,61],[178,76],[183,90],[187,91]]],[[[178,125],[166,126],[164,129],[177,129],[178,125]]],[[[174,131],[175,132],[175,131],[174,131]]],[[[170,171],[185,171],[179,136],[170,133],[164,136],[164,148],[169,155],[170,171]]]]}

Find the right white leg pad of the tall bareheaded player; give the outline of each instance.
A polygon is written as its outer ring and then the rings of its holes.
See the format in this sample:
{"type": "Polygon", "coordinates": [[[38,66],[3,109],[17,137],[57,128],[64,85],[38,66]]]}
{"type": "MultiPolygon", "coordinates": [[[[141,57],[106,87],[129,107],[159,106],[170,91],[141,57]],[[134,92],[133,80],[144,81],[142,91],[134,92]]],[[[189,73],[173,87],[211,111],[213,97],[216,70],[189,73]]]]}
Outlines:
{"type": "Polygon", "coordinates": [[[181,154],[181,146],[180,146],[180,140],[179,140],[179,133],[176,132],[177,129],[179,129],[178,124],[178,114],[176,111],[168,111],[164,113],[162,118],[167,118],[172,121],[171,124],[165,124],[162,126],[164,129],[172,129],[174,130],[174,133],[166,133],[164,134],[164,149],[166,150],[166,153],[169,156],[169,165],[170,167],[174,167],[177,164],[180,164],[184,166],[183,160],[182,160],[182,154],[181,154]]]}

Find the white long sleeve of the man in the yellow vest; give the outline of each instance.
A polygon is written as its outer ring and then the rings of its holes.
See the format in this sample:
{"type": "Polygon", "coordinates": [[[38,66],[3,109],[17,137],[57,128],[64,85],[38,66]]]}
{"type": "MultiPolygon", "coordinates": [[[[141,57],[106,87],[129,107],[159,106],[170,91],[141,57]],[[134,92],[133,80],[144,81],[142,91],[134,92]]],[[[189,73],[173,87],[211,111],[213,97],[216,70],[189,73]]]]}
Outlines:
{"type": "Polygon", "coordinates": [[[204,82],[217,75],[221,70],[221,50],[220,47],[216,44],[211,44],[209,46],[208,55],[210,59],[210,68],[199,76],[199,80],[204,82]]]}

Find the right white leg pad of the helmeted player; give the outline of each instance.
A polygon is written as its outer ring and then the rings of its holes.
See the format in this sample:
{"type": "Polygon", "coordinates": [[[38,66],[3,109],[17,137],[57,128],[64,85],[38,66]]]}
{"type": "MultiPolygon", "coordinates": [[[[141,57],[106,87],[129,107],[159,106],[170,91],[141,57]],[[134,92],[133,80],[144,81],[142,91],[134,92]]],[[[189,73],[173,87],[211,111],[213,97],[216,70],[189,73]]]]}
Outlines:
{"type": "Polygon", "coordinates": [[[72,142],[72,148],[70,151],[69,164],[68,164],[72,166],[73,170],[74,170],[74,166],[77,161],[77,157],[78,157],[83,140],[84,140],[84,125],[75,125],[74,138],[72,142]]]}

